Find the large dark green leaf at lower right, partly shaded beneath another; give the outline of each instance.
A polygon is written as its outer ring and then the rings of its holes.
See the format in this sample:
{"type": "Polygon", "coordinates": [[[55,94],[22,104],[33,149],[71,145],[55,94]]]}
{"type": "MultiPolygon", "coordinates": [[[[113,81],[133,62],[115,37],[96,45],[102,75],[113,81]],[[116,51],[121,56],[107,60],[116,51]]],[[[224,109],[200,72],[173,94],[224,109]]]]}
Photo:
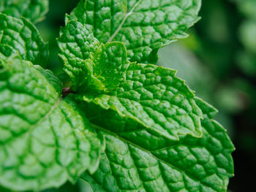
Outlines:
{"type": "Polygon", "coordinates": [[[225,129],[207,117],[216,110],[197,101],[206,112],[203,137],[187,135],[179,141],[102,112],[99,118],[108,119],[108,124],[105,129],[96,127],[105,134],[106,150],[97,172],[84,173],[82,178],[97,192],[226,191],[233,176],[234,147],[225,129]]]}

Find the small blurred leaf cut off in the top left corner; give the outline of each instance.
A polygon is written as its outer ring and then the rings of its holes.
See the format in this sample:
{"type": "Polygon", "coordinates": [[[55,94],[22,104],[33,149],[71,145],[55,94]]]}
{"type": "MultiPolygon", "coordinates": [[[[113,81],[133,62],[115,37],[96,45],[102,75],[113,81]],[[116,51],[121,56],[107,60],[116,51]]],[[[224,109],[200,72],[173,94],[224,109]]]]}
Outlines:
{"type": "Polygon", "coordinates": [[[48,8],[48,0],[1,0],[0,2],[0,12],[15,18],[27,18],[32,23],[43,20],[48,8]]]}

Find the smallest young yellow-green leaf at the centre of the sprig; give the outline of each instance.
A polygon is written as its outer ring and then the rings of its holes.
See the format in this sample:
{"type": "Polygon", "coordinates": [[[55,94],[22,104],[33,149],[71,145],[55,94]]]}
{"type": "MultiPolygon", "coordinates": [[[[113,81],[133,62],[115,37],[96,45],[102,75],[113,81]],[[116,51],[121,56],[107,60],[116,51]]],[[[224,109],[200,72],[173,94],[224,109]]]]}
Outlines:
{"type": "Polygon", "coordinates": [[[89,86],[102,91],[115,89],[121,80],[124,80],[124,72],[127,71],[127,50],[121,42],[110,42],[102,45],[92,54],[91,59],[86,60],[89,72],[89,86]]]}

